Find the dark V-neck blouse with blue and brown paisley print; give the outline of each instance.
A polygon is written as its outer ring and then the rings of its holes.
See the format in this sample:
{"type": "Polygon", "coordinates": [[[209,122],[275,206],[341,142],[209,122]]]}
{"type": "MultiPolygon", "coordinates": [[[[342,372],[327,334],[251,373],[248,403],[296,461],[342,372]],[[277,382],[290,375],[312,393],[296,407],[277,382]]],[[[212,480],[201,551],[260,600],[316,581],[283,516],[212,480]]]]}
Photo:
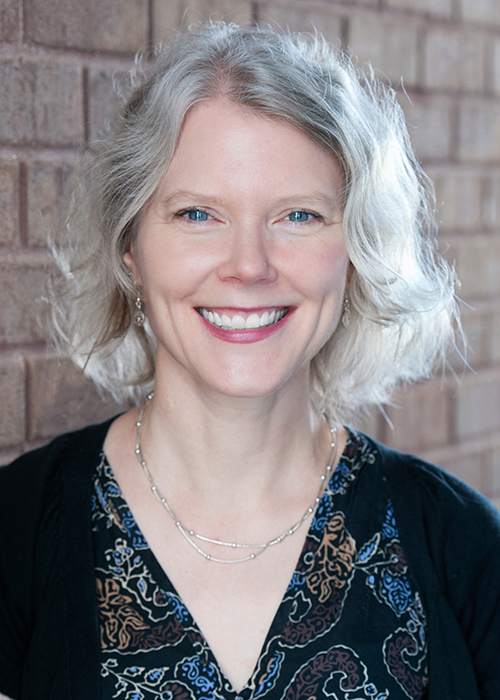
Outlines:
{"type": "Polygon", "coordinates": [[[378,453],[351,433],[247,686],[235,693],[104,455],[92,521],[104,700],[423,700],[427,630],[378,453]]]}

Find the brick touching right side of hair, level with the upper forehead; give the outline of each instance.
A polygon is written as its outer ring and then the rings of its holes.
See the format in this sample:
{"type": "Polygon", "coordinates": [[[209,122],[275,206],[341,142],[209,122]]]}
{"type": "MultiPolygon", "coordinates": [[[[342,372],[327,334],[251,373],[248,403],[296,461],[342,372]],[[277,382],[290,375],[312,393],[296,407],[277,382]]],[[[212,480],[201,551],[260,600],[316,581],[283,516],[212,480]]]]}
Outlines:
{"type": "Polygon", "coordinates": [[[451,103],[442,98],[417,98],[410,104],[406,96],[401,105],[408,131],[419,158],[445,159],[451,154],[451,103]]]}

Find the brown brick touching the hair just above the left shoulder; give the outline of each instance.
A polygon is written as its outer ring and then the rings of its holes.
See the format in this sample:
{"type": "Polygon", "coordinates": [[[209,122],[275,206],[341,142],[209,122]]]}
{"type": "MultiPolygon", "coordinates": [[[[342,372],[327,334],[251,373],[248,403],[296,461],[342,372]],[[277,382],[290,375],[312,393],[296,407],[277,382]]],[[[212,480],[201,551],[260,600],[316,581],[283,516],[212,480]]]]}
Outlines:
{"type": "Polygon", "coordinates": [[[44,440],[116,415],[120,408],[104,402],[93,384],[68,359],[28,361],[30,377],[29,439],[44,440]]]}

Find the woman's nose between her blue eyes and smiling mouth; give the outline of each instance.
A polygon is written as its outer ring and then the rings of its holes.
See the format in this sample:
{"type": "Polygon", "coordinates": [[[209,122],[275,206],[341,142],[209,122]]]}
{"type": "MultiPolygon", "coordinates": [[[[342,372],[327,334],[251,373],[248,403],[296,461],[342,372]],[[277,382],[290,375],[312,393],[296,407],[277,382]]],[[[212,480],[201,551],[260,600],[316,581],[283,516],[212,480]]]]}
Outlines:
{"type": "Polygon", "coordinates": [[[234,227],[230,240],[226,241],[219,276],[243,284],[274,282],[277,270],[271,249],[272,241],[262,227],[250,224],[234,227]]]}

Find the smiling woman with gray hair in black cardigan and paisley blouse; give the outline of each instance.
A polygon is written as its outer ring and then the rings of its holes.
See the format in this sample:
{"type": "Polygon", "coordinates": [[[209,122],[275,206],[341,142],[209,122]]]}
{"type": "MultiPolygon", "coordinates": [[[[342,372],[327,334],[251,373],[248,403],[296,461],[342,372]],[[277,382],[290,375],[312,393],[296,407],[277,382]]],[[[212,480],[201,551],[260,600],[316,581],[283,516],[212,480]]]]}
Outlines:
{"type": "Polygon", "coordinates": [[[0,473],[0,690],[500,697],[496,511],[343,427],[457,316],[392,91],[203,26],[89,172],[57,325],[141,407],[0,473]]]}

